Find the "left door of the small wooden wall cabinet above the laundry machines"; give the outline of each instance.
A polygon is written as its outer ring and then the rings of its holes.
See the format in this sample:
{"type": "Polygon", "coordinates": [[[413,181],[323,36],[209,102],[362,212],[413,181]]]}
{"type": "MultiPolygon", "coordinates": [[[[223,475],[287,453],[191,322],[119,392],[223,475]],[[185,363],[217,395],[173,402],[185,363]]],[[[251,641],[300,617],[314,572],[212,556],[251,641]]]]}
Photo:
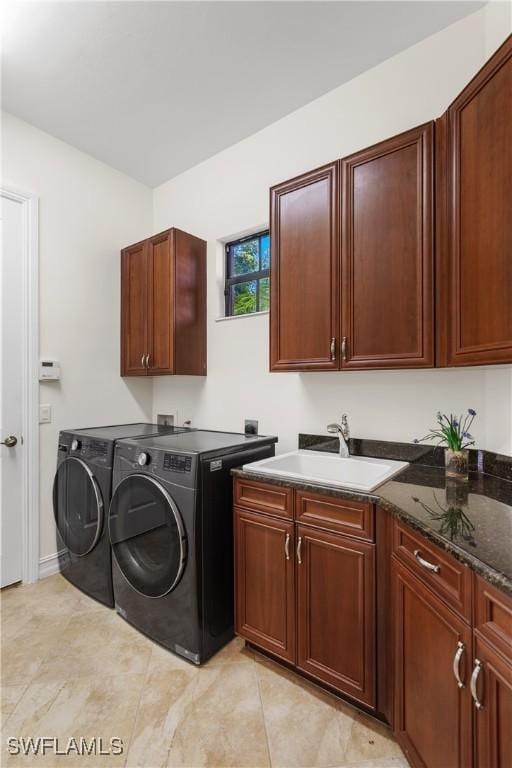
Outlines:
{"type": "Polygon", "coordinates": [[[121,376],[147,375],[147,264],[145,243],[121,251],[121,376]]]}

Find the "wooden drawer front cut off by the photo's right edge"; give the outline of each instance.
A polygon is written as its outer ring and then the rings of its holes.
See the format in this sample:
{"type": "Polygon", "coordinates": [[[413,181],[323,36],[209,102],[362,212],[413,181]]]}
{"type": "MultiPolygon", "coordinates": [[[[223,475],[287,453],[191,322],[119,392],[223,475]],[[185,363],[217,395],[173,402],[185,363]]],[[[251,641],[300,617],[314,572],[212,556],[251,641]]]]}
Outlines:
{"type": "Polygon", "coordinates": [[[475,576],[475,630],[512,660],[512,599],[475,576]]]}

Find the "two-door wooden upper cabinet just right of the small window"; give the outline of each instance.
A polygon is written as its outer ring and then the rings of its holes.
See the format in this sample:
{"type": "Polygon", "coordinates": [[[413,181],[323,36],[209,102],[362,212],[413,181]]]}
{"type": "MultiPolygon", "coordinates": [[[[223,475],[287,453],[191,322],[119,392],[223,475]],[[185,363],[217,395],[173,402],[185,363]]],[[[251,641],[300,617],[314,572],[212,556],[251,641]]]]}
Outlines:
{"type": "Polygon", "coordinates": [[[271,189],[272,371],[434,364],[433,143],[429,123],[271,189]]]}

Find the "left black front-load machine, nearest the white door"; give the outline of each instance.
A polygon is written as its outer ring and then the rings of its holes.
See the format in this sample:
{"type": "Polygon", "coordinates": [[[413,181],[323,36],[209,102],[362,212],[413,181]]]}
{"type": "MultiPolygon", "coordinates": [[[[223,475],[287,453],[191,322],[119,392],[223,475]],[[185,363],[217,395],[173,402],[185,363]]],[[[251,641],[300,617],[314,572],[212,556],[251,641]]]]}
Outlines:
{"type": "Polygon", "coordinates": [[[114,606],[112,556],[106,519],[114,445],[135,435],[188,432],[157,424],[121,424],[60,432],[53,510],[59,569],[72,584],[114,606]]]}

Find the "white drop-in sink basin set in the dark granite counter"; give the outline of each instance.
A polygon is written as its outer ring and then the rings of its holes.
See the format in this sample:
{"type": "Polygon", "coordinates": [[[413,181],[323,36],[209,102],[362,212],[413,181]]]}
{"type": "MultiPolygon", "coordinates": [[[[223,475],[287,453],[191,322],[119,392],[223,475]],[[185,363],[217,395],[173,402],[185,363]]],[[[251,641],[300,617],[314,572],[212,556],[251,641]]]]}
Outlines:
{"type": "Polygon", "coordinates": [[[373,491],[407,466],[406,461],[369,459],[363,456],[344,459],[335,453],[291,451],[244,464],[243,469],[272,477],[290,477],[308,483],[373,491]]]}

